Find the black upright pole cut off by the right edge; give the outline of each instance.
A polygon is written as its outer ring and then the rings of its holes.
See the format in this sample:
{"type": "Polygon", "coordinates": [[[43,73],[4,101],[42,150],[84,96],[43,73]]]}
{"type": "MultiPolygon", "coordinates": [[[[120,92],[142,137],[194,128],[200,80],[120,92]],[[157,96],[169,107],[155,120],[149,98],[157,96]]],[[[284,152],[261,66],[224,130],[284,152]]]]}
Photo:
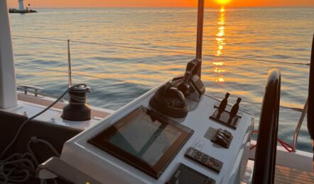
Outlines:
{"type": "Polygon", "coordinates": [[[314,140],[314,35],[310,57],[310,79],[308,84],[308,133],[314,140]]]}

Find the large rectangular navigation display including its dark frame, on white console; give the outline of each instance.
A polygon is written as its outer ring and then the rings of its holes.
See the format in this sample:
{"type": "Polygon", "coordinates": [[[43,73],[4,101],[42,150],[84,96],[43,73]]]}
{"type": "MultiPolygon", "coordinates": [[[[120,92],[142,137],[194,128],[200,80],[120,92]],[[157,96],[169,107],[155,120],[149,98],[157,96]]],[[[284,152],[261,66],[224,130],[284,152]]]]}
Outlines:
{"type": "Polygon", "coordinates": [[[188,127],[141,107],[89,142],[158,178],[191,134],[188,127]]]}

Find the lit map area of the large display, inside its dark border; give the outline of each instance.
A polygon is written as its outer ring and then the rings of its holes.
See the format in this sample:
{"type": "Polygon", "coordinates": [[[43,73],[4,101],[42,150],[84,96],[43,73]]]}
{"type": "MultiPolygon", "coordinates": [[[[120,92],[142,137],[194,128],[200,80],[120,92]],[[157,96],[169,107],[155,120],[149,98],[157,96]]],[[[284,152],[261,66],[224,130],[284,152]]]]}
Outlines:
{"type": "Polygon", "coordinates": [[[158,120],[153,122],[151,117],[140,113],[117,130],[109,142],[153,166],[180,134],[175,127],[158,120]]]}

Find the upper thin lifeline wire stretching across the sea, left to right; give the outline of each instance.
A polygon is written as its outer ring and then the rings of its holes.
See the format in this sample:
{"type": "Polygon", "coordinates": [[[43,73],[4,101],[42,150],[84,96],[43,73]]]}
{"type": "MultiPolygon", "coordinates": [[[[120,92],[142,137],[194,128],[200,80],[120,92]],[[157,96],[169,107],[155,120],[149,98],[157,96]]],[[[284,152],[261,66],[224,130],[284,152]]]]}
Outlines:
{"type": "MultiPolygon", "coordinates": [[[[25,35],[12,35],[14,37],[18,38],[34,38],[34,39],[41,39],[41,40],[55,40],[55,41],[66,41],[64,39],[57,39],[57,38],[43,38],[43,37],[33,37],[33,36],[25,36],[25,35]]],[[[178,51],[171,51],[171,50],[159,50],[159,49],[151,49],[151,48],[143,48],[143,47],[131,47],[131,46],[124,46],[124,45],[115,45],[115,44],[106,44],[106,43],[100,43],[100,42],[86,42],[86,41],[79,41],[79,40],[70,40],[71,42],[77,42],[77,43],[84,43],[84,44],[91,44],[91,45],[103,45],[103,46],[109,46],[109,47],[120,47],[125,49],[132,49],[132,50],[146,50],[146,51],[153,51],[153,52],[168,52],[173,54],[188,54],[188,55],[194,55],[192,52],[178,52],[178,51]]],[[[216,56],[215,54],[202,54],[203,56],[207,57],[222,57],[227,59],[242,59],[247,60],[251,62],[266,62],[266,63],[277,63],[277,64],[293,64],[293,65],[305,65],[310,66],[309,63],[297,63],[297,62],[278,62],[273,61],[269,59],[249,59],[244,57],[229,57],[229,56],[216,56]]]]}

